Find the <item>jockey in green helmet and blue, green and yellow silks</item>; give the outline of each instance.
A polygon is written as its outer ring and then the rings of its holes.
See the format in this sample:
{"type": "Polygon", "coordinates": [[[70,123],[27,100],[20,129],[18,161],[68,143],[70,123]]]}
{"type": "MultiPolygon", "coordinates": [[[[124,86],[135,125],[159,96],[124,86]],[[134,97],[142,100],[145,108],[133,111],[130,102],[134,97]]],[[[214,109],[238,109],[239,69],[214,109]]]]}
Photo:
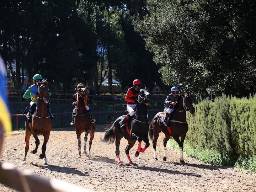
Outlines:
{"type": "MultiPolygon", "coordinates": [[[[27,121],[30,123],[32,120],[32,114],[34,114],[37,106],[38,83],[42,82],[42,80],[43,80],[42,75],[39,75],[39,74],[34,75],[33,76],[34,84],[28,87],[25,94],[23,95],[23,98],[31,98],[30,109],[27,116],[27,121]]],[[[50,92],[49,92],[49,95],[51,95],[50,92]]],[[[50,115],[50,118],[53,119],[54,116],[50,108],[50,103],[48,103],[46,107],[50,115]]]]}

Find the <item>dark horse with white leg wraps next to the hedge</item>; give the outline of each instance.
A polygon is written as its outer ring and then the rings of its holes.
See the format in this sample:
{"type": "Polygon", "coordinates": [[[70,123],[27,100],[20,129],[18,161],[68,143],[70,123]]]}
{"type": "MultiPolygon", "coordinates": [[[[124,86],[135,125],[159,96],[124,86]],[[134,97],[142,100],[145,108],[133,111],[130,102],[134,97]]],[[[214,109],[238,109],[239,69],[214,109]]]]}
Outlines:
{"type": "Polygon", "coordinates": [[[192,105],[192,100],[190,96],[185,93],[178,97],[178,104],[176,110],[169,117],[170,125],[169,127],[164,125],[165,113],[158,112],[154,118],[152,119],[149,126],[149,137],[153,140],[153,148],[154,148],[154,158],[158,160],[156,156],[156,142],[159,137],[159,133],[163,132],[165,134],[164,138],[164,157],[163,161],[166,161],[166,143],[172,136],[174,140],[178,143],[180,147],[180,162],[182,164],[185,163],[183,159],[183,143],[188,131],[188,124],[186,122],[186,111],[190,111],[192,115],[194,115],[195,109],[192,105]],[[180,137],[180,139],[179,139],[180,137]]]}

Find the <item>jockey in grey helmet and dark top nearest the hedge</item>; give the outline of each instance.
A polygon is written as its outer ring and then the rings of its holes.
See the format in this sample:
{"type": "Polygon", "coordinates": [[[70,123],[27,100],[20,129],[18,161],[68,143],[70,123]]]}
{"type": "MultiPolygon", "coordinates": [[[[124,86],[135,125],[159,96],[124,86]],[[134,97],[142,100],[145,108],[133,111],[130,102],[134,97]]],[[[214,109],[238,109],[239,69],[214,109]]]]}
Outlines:
{"type": "Polygon", "coordinates": [[[178,99],[178,87],[171,88],[171,94],[167,95],[165,102],[164,102],[164,112],[165,112],[165,126],[169,126],[168,119],[172,112],[174,112],[174,106],[177,104],[178,99]]]}

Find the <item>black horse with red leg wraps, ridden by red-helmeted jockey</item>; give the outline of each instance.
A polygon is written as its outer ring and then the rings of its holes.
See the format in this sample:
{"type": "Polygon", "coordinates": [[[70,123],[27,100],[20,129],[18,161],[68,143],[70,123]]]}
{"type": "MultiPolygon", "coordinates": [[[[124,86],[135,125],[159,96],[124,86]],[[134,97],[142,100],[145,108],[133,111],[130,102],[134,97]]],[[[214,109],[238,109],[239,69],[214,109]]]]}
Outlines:
{"type": "Polygon", "coordinates": [[[123,137],[128,141],[125,153],[129,160],[129,165],[133,164],[132,160],[130,159],[129,151],[135,144],[136,140],[138,140],[139,142],[138,149],[135,153],[136,157],[139,156],[140,152],[144,153],[146,148],[149,147],[149,123],[146,108],[146,104],[150,101],[149,92],[146,89],[140,89],[137,101],[138,103],[137,109],[135,111],[135,118],[131,117],[127,120],[126,128],[123,130],[120,127],[120,121],[122,121],[122,119],[126,116],[120,116],[116,119],[111,127],[107,128],[105,135],[103,136],[103,138],[101,138],[102,142],[108,144],[114,143],[114,141],[116,140],[116,156],[119,166],[123,165],[119,157],[119,145],[120,140],[123,137]],[[145,142],[145,147],[143,149],[141,148],[142,140],[145,142]]]}

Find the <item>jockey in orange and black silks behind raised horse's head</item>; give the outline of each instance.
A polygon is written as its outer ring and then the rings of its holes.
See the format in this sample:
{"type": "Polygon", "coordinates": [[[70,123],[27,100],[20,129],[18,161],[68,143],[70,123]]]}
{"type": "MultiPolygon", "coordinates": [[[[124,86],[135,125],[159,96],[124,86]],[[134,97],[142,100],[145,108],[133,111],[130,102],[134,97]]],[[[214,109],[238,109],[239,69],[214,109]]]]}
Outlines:
{"type": "MultiPolygon", "coordinates": [[[[75,106],[75,108],[73,109],[73,113],[72,113],[72,121],[70,123],[70,125],[74,126],[74,115],[76,114],[76,108],[77,108],[77,92],[80,92],[82,93],[83,91],[81,90],[81,88],[84,88],[84,84],[82,83],[79,83],[77,85],[77,88],[76,88],[76,93],[73,95],[73,103],[72,105],[75,106]]],[[[95,119],[92,118],[92,114],[91,114],[91,110],[89,108],[89,106],[87,106],[87,102],[89,101],[89,93],[90,93],[90,90],[89,90],[89,87],[85,87],[84,88],[85,90],[85,97],[84,97],[84,103],[85,103],[85,110],[88,111],[88,113],[90,114],[90,117],[91,117],[91,122],[92,123],[95,123],[95,119]]]]}

